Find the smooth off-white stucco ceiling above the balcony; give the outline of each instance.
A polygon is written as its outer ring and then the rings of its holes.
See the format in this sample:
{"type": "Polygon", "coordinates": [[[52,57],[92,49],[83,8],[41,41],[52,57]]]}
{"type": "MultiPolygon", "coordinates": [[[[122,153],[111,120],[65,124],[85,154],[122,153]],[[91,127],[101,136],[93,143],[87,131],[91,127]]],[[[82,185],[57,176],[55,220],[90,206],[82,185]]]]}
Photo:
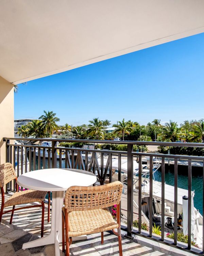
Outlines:
{"type": "Polygon", "coordinates": [[[18,84],[201,32],[203,0],[0,0],[0,76],[18,84]]]}

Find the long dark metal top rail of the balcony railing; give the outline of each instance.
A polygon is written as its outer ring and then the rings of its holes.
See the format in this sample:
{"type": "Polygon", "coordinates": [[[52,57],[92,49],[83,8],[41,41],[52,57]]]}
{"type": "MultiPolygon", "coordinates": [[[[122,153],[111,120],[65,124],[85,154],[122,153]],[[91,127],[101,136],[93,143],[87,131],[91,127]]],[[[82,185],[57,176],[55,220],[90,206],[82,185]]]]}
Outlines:
{"type": "Polygon", "coordinates": [[[177,147],[204,147],[204,143],[194,142],[161,142],[161,141],[114,141],[114,140],[78,140],[78,139],[53,139],[53,138],[4,138],[6,140],[23,141],[58,141],[58,142],[78,142],[78,143],[98,143],[98,144],[131,144],[131,145],[153,145],[153,146],[177,146],[177,147]]]}

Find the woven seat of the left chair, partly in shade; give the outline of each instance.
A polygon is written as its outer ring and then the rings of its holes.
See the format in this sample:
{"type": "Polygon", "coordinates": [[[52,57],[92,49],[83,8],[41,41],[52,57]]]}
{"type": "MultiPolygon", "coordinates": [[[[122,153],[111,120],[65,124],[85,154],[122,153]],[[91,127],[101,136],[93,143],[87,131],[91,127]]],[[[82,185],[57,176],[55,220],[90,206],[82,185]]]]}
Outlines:
{"type": "Polygon", "coordinates": [[[4,204],[4,207],[8,207],[11,205],[24,204],[24,203],[33,203],[44,201],[47,191],[39,191],[39,190],[24,190],[15,192],[4,204]]]}

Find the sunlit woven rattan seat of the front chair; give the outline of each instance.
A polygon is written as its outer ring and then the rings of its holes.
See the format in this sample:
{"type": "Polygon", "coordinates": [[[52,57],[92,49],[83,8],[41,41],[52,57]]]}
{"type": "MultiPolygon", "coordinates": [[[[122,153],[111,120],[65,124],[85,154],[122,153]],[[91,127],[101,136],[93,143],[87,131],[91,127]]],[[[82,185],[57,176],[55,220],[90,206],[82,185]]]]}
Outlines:
{"type": "MultiPolygon", "coordinates": [[[[65,208],[63,207],[65,215],[65,208]]],[[[99,233],[118,228],[111,213],[106,209],[69,212],[69,237],[99,233]]]]}

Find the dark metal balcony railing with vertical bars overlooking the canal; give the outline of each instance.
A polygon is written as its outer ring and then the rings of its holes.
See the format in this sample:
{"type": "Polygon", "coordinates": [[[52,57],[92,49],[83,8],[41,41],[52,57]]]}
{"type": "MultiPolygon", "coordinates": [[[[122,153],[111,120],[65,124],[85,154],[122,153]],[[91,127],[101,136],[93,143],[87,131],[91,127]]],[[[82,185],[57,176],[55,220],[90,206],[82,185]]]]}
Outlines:
{"type": "MultiPolygon", "coordinates": [[[[191,235],[188,236],[187,245],[181,244],[177,241],[177,221],[174,221],[174,240],[167,239],[165,237],[165,160],[168,158],[174,159],[174,210],[173,214],[177,220],[177,193],[178,193],[178,159],[185,159],[188,163],[188,234],[191,234],[191,176],[192,176],[192,160],[201,161],[204,163],[204,157],[201,156],[187,156],[187,155],[164,155],[158,153],[146,153],[146,152],[133,152],[133,145],[155,145],[155,146],[185,146],[185,147],[204,147],[204,143],[180,143],[180,142],[144,142],[144,141],[107,141],[107,140],[76,140],[76,139],[46,139],[50,142],[50,146],[40,146],[40,145],[26,145],[26,144],[12,144],[14,138],[4,138],[6,141],[6,161],[11,162],[16,168],[17,176],[23,172],[29,172],[36,169],[42,168],[75,168],[82,169],[89,172],[93,172],[98,177],[98,183],[104,184],[105,182],[112,182],[112,163],[114,157],[118,159],[117,174],[118,180],[121,181],[123,172],[121,171],[121,159],[127,159],[127,191],[126,191],[126,215],[127,221],[126,226],[123,228],[127,231],[126,237],[132,238],[133,234],[139,236],[145,236],[149,239],[156,240],[177,248],[182,248],[195,254],[204,252],[204,242],[203,251],[199,248],[192,248],[191,246],[191,235]],[[88,148],[73,148],[73,147],[61,147],[57,146],[58,142],[80,142],[84,144],[98,144],[98,143],[109,143],[109,144],[126,144],[127,151],[113,151],[113,150],[95,150],[88,148]],[[22,154],[23,153],[23,154],[22,154]],[[144,232],[142,230],[142,182],[143,182],[143,170],[142,170],[142,158],[149,158],[149,232],[144,232]],[[153,166],[155,158],[160,159],[161,165],[161,234],[160,237],[155,237],[153,234],[153,166]],[[133,170],[133,160],[137,159],[139,164],[139,170],[137,174],[137,189],[138,189],[138,228],[133,227],[133,195],[135,191],[134,183],[134,170],[133,170]],[[28,165],[29,162],[29,165],[28,165]],[[105,162],[105,165],[104,165],[105,162]],[[63,166],[64,164],[64,166],[63,166]],[[36,166],[37,165],[37,166],[36,166]]],[[[15,140],[20,141],[20,139],[15,138],[15,140]]],[[[25,139],[25,141],[45,141],[45,139],[25,139]]],[[[204,168],[202,168],[204,173],[204,168]]],[[[204,184],[204,176],[202,179],[202,186],[204,184]]],[[[7,189],[14,190],[14,184],[10,182],[7,184],[7,189]]],[[[23,189],[23,188],[21,188],[23,189]]],[[[203,197],[203,212],[204,212],[204,197],[203,197]]],[[[204,226],[204,221],[202,218],[202,224],[204,226]]],[[[204,239],[204,230],[203,230],[204,239]]]]}

